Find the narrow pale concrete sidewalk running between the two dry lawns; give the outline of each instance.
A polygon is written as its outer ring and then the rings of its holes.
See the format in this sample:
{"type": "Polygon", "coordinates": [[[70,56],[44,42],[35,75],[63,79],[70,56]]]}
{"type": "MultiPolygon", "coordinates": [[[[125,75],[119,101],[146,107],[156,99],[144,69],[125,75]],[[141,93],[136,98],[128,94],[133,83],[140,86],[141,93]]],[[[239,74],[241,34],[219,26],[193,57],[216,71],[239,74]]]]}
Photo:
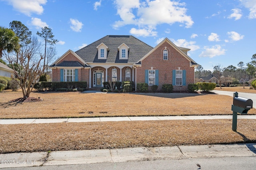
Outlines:
{"type": "MultiPolygon", "coordinates": [[[[256,119],[256,115],[238,115],[238,119],[256,119]]],[[[191,116],[135,116],[135,117],[83,117],[52,119],[0,119],[0,124],[30,123],[69,123],[69,122],[101,122],[101,121],[150,121],[150,120],[198,120],[198,119],[232,119],[232,115],[191,115],[191,116]]]]}

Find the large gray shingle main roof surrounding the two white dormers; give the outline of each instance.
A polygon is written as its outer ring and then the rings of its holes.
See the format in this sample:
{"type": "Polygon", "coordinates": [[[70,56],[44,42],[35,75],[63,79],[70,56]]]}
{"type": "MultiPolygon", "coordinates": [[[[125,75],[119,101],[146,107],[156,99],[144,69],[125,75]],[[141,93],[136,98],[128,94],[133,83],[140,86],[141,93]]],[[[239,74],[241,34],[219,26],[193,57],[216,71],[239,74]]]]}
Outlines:
{"type": "Polygon", "coordinates": [[[153,47],[131,35],[107,35],[75,53],[87,63],[136,63],[152,49],[153,47]],[[104,43],[109,48],[107,59],[98,59],[98,49],[96,47],[100,43],[104,43]],[[119,59],[118,46],[122,43],[130,47],[128,60],[119,59]]]}

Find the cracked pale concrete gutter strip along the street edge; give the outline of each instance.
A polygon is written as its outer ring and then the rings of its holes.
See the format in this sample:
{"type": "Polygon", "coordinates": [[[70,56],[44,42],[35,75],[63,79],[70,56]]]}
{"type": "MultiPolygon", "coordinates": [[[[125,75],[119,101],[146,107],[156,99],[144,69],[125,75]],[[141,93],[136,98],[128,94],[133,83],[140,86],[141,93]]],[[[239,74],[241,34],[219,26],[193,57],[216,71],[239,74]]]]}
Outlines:
{"type": "Polygon", "coordinates": [[[0,154],[0,168],[255,156],[256,143],[0,154]]]}

